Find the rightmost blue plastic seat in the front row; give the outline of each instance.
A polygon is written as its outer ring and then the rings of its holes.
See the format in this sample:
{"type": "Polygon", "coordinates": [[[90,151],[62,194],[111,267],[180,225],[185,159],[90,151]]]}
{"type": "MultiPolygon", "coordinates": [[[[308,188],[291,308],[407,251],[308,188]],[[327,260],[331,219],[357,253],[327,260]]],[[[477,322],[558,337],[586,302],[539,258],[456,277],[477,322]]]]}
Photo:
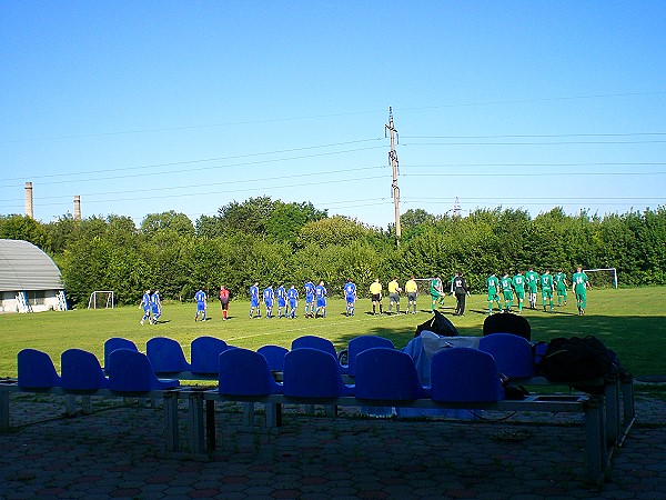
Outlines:
{"type": "Polygon", "coordinates": [[[495,360],[477,349],[452,348],[436,352],[431,364],[431,383],[434,401],[490,402],[504,399],[495,360]]]}

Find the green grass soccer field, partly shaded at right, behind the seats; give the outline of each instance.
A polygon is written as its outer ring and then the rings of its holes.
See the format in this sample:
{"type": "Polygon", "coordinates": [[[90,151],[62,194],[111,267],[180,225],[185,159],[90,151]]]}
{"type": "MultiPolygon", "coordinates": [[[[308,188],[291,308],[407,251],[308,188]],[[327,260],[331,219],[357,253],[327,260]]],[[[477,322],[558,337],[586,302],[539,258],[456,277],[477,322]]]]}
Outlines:
{"type": "MultiPolygon", "coordinates": [[[[662,304],[666,288],[599,289],[588,292],[586,314],[577,314],[569,294],[567,306],[553,313],[524,310],[532,324],[533,340],[554,337],[596,336],[614,349],[623,364],[635,376],[666,374],[666,312],[662,304]]],[[[403,298],[403,308],[406,301],[403,298]]],[[[387,303],[384,304],[387,309],[387,303]]],[[[103,359],[103,343],[110,337],[124,337],[140,350],[152,337],[178,340],[189,357],[190,342],[200,336],[212,336],[238,347],[256,349],[266,343],[290,347],[303,334],[331,339],[339,349],[360,334],[379,334],[404,347],[413,338],[416,326],[431,318],[430,298],[421,297],[417,314],[369,314],[369,299],[361,299],[353,318],[344,316],[344,301],[330,299],[327,318],[266,320],[248,318],[249,302],[232,301],[230,320],[222,321],[219,302],[209,303],[206,322],[194,322],[193,303],[164,303],[163,323],[139,324],[143,311],[122,307],[114,310],[72,310],[32,314],[0,314],[0,377],[17,376],[17,353],[23,348],[48,352],[57,368],[60,354],[69,348],[89,350],[103,359]]],[[[462,336],[481,336],[487,313],[485,296],[467,299],[464,317],[453,316],[455,300],[447,297],[440,310],[450,318],[462,336]]],[[[303,306],[300,306],[300,312],[303,306]]],[[[262,308],[263,312],[263,308],[262,308]]]]}

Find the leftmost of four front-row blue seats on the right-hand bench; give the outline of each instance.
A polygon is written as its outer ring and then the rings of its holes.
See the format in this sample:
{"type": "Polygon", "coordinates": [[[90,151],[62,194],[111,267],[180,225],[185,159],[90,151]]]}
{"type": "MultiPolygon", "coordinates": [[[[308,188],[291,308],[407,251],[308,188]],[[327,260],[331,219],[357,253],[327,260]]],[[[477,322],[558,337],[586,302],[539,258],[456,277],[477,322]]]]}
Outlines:
{"type": "Polygon", "coordinates": [[[228,349],[219,356],[218,391],[229,396],[269,396],[282,392],[266,359],[249,349],[228,349]]]}

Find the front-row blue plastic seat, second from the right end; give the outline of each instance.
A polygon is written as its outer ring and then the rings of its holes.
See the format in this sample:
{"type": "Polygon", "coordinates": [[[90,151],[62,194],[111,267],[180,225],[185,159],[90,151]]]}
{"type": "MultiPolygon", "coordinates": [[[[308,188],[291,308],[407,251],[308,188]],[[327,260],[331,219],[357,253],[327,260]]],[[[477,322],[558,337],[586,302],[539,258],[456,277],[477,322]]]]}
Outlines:
{"type": "Polygon", "coordinates": [[[389,348],[367,349],[356,357],[356,398],[412,401],[430,397],[410,354],[389,348]]]}

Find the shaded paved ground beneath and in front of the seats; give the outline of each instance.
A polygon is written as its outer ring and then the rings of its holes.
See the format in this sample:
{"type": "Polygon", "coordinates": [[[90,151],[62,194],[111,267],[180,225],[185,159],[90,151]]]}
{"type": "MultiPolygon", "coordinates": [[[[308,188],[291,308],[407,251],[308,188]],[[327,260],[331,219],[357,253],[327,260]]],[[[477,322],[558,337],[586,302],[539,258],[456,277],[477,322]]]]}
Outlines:
{"type": "MultiPolygon", "coordinates": [[[[556,416],[553,424],[536,414],[541,422],[289,411],[282,428],[269,430],[242,428],[240,412],[219,406],[218,449],[193,459],[164,452],[161,409],[121,402],[98,400],[93,414],[65,419],[53,418],[62,398],[12,396],[18,429],[0,434],[0,498],[666,498],[666,402],[642,397],[638,420],[597,492],[584,484],[579,416],[556,416]]],[[[189,447],[184,429],[181,440],[189,447]]]]}

